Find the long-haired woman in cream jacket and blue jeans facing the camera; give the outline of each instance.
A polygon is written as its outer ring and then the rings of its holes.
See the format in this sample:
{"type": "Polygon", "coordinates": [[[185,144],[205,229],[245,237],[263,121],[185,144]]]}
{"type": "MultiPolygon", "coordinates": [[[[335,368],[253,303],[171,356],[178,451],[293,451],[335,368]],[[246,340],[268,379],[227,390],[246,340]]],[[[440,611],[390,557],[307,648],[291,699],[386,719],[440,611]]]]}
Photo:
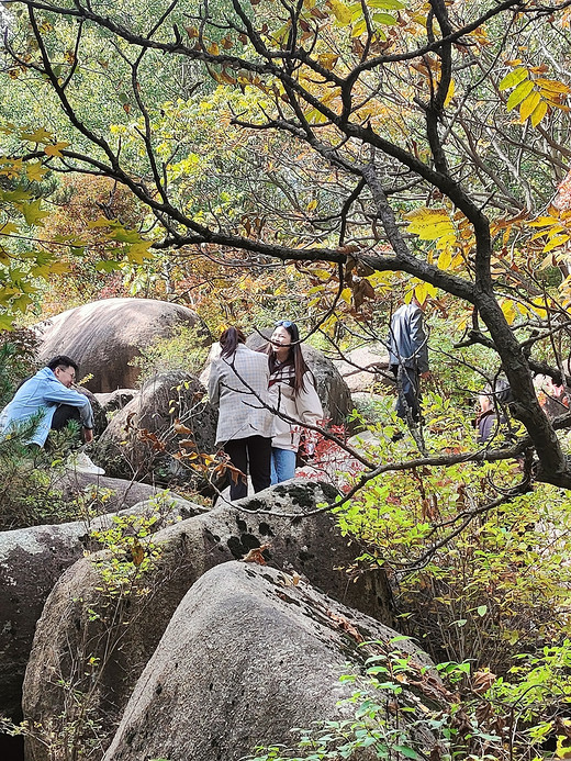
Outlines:
{"type": "Polygon", "coordinates": [[[301,352],[295,323],[280,320],[268,347],[270,404],[273,416],[271,438],[271,483],[295,475],[295,456],[303,424],[316,425],[323,407],[315,391],[313,374],[301,352]]]}

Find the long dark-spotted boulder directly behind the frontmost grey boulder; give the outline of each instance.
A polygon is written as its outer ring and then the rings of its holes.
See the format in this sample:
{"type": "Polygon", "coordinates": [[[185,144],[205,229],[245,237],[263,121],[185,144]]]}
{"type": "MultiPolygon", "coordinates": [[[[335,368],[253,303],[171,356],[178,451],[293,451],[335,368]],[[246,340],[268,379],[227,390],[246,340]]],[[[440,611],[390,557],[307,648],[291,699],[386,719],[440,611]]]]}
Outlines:
{"type": "MultiPolygon", "coordinates": [[[[70,710],[71,689],[89,702],[78,700],[81,716],[104,716],[98,734],[104,748],[188,590],[209,569],[253,555],[390,622],[390,590],[382,572],[350,579],[344,569],[354,564],[357,550],[328,513],[315,514],[317,504],[333,503],[335,494],[331,486],[296,481],[238,504],[219,503],[209,513],[177,523],[154,536],[160,557],[125,597],[110,597],[102,584],[97,563],[112,558],[97,553],[79,560],[55,585],[37,624],[24,684],[25,716],[53,727],[57,736],[64,730],[57,717],[70,710]]],[[[247,617],[247,611],[244,614],[247,617]]],[[[68,714],[66,720],[75,718],[68,714]]],[[[94,739],[87,724],[81,730],[82,741],[94,739]]],[[[29,761],[48,758],[41,741],[30,740],[29,761]]]]}

